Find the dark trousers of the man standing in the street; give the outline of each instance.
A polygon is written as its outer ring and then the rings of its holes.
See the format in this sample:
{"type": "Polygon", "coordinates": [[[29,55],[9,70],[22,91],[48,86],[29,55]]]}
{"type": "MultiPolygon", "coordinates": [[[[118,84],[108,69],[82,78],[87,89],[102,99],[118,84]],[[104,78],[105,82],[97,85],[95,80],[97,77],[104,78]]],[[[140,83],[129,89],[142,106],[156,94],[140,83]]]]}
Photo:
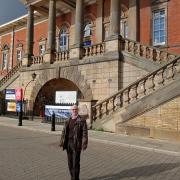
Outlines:
{"type": "Polygon", "coordinates": [[[79,180],[80,155],[81,151],[77,151],[74,144],[69,142],[67,146],[67,157],[71,180],[79,180]]]}

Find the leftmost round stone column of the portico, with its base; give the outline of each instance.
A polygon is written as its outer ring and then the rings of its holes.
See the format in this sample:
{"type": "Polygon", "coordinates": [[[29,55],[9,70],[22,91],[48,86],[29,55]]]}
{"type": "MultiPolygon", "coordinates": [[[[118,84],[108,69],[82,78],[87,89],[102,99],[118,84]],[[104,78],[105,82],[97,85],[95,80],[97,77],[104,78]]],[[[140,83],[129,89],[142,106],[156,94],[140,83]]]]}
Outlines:
{"type": "Polygon", "coordinates": [[[34,8],[28,6],[28,17],[27,17],[27,32],[26,32],[26,51],[22,61],[23,66],[29,66],[31,64],[31,56],[33,55],[34,45],[34,8]]]}

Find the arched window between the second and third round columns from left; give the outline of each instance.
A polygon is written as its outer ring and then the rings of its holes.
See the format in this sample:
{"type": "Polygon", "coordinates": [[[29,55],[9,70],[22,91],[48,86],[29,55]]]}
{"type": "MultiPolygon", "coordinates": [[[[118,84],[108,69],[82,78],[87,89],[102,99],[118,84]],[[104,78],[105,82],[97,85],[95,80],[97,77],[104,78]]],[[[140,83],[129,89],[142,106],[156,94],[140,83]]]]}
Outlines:
{"type": "Polygon", "coordinates": [[[60,34],[59,34],[59,48],[60,51],[65,51],[68,49],[68,34],[67,34],[67,27],[62,27],[60,34]]]}

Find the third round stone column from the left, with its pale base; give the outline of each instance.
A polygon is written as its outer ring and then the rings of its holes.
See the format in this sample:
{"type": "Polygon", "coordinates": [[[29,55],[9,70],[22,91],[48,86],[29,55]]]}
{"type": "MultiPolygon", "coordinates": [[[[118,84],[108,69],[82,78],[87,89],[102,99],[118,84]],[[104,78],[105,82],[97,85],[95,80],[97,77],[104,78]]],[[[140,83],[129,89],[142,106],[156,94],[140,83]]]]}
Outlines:
{"type": "Polygon", "coordinates": [[[76,0],[76,15],[75,15],[75,34],[74,34],[74,45],[70,51],[71,59],[81,58],[81,45],[83,40],[83,7],[84,0],[76,0]]]}

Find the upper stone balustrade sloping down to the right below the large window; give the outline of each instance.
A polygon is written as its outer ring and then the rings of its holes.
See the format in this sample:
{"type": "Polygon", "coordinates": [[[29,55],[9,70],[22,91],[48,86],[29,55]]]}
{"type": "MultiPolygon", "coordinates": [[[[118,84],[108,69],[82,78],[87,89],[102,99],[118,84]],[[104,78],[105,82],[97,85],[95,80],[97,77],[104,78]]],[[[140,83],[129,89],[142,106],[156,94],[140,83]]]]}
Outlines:
{"type": "Polygon", "coordinates": [[[152,46],[143,45],[137,41],[126,38],[122,40],[121,44],[122,50],[124,50],[125,52],[158,63],[170,62],[178,56],[177,54],[169,53],[152,46]]]}

